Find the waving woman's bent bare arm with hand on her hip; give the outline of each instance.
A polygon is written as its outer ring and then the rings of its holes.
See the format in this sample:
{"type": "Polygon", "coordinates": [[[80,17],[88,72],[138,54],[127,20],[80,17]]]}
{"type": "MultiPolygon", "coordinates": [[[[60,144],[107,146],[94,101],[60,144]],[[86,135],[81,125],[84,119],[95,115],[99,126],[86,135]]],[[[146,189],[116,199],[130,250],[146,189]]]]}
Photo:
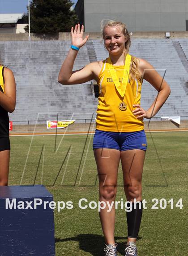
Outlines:
{"type": "Polygon", "coordinates": [[[150,119],[151,117],[154,117],[154,115],[156,115],[156,113],[160,110],[160,108],[170,95],[171,90],[167,82],[162,79],[162,77],[158,74],[158,72],[150,63],[148,63],[144,59],[139,60],[139,71],[141,72],[141,74],[143,74],[143,78],[151,85],[153,85],[154,88],[158,91],[158,95],[147,111],[145,111],[139,105],[133,105],[133,107],[137,107],[133,111],[133,113],[137,116],[138,119],[143,117],[150,119]]]}

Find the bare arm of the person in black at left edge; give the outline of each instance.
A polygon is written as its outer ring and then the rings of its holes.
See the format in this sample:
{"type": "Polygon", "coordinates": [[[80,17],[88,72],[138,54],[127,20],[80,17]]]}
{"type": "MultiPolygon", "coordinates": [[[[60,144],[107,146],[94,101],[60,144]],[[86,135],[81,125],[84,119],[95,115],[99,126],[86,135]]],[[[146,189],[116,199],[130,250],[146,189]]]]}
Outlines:
{"type": "Polygon", "coordinates": [[[4,68],[4,93],[0,91],[0,106],[12,113],[16,105],[16,83],[13,72],[4,68]]]}

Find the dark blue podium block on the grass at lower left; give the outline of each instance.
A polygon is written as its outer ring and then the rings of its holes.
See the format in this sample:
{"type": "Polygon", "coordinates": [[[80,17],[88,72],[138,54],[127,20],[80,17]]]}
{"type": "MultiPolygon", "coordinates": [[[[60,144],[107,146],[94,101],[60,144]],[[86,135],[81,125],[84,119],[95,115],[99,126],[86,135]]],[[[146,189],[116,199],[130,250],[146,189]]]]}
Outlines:
{"type": "Polygon", "coordinates": [[[44,209],[46,201],[53,195],[41,185],[0,186],[0,256],[55,256],[54,212],[48,203],[44,209]],[[36,209],[35,201],[42,202],[36,209]]]}

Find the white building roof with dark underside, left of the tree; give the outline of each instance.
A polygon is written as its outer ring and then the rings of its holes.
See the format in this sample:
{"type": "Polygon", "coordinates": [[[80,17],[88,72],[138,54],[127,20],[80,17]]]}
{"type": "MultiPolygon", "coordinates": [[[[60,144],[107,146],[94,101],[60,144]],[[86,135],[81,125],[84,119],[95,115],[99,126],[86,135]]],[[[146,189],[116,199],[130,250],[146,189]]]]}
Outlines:
{"type": "Polygon", "coordinates": [[[25,13],[0,13],[0,27],[15,27],[25,13]]]}

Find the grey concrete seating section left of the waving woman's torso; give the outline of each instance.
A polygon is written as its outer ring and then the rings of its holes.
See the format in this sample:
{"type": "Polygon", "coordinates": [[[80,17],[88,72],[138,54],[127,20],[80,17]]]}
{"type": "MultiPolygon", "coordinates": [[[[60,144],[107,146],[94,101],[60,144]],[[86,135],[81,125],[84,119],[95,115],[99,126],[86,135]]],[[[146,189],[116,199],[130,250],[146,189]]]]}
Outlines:
{"type": "MultiPolygon", "coordinates": [[[[17,82],[17,107],[9,115],[11,120],[37,120],[38,112],[58,112],[60,119],[69,119],[73,112],[79,112],[78,116],[85,119],[90,118],[87,112],[95,112],[97,99],[92,95],[90,82],[68,86],[57,82],[69,48],[69,41],[4,42],[2,61],[13,70],[17,82]]],[[[83,47],[73,69],[80,69],[87,63],[87,48],[83,47]]],[[[38,119],[52,116],[40,114],[38,119]]]]}

